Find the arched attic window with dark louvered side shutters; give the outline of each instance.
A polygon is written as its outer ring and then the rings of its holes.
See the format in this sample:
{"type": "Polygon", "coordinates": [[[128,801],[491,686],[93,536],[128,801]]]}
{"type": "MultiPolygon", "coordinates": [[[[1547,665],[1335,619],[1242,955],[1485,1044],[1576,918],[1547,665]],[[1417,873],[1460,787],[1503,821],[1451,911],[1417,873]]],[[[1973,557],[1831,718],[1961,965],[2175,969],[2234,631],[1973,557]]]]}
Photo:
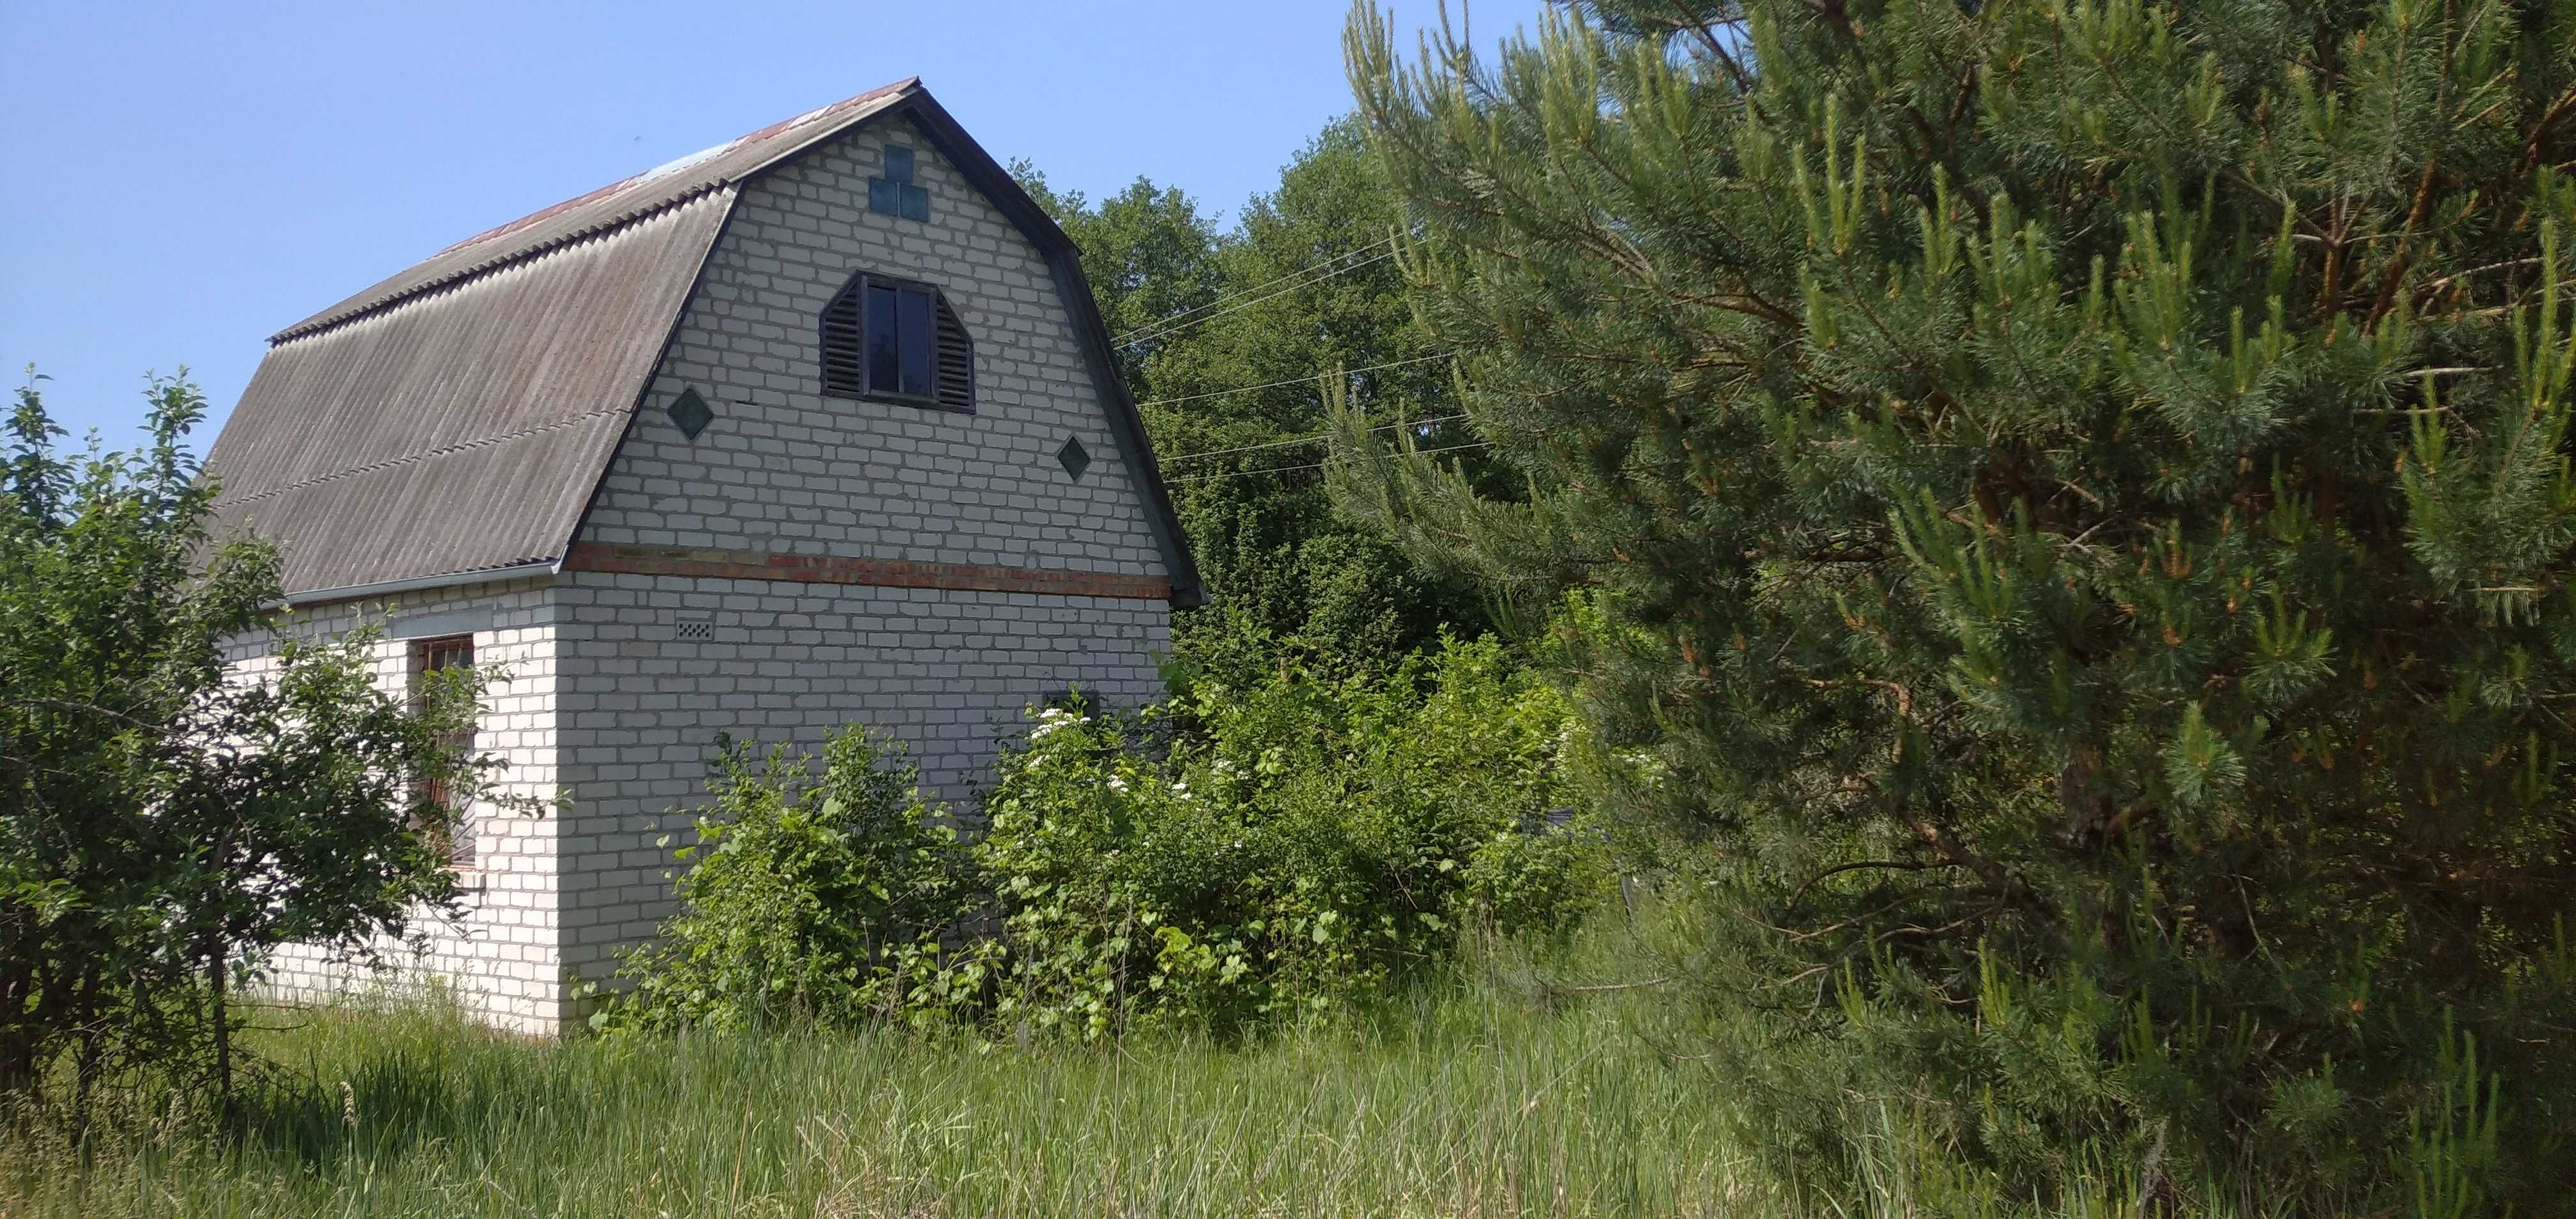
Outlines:
{"type": "Polygon", "coordinates": [[[822,392],[974,415],[974,338],[940,289],[863,271],[822,309],[822,392]]]}

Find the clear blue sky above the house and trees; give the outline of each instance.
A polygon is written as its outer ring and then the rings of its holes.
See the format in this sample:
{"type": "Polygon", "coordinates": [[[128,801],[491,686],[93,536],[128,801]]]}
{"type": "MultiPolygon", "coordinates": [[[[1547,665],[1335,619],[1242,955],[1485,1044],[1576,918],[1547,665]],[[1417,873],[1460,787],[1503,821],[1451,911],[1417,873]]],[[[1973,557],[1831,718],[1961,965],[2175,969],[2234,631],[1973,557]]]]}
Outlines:
{"type": "MultiPolygon", "coordinates": [[[[1394,0],[1406,26],[1435,0],[1394,0]]],[[[1476,8],[1476,41],[1538,0],[1476,8]]],[[[278,327],[438,247],[920,75],[999,160],[1231,211],[1350,108],[1340,0],[0,3],[0,389],[131,438],[278,327]]]]}

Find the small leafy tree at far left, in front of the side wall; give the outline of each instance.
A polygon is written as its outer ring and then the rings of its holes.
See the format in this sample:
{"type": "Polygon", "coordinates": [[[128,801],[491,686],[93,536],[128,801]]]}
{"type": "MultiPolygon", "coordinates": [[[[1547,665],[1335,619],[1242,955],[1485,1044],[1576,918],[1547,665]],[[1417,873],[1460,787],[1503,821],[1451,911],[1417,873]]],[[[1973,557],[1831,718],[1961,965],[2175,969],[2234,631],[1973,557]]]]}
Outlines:
{"type": "Polygon", "coordinates": [[[75,1118],[116,1085],[229,1100],[232,987],[283,943],[368,956],[451,915],[464,809],[526,809],[453,745],[479,675],[415,706],[376,686],[374,631],[270,621],[273,552],[204,531],[204,397],[149,397],[142,451],[64,456],[28,384],[0,487],[0,1093],[75,1118]],[[268,667],[227,678],[260,629],[268,667]]]}

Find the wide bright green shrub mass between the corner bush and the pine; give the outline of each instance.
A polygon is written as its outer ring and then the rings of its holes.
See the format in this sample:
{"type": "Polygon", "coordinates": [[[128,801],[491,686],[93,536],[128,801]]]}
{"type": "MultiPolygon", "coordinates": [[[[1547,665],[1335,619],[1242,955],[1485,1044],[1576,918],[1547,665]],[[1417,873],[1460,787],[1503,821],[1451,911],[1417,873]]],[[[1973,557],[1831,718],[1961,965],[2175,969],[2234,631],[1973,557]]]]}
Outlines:
{"type": "Polygon", "coordinates": [[[976,843],[1010,961],[994,1013],[1242,1031],[1422,977],[1466,917],[1561,928],[1600,874],[1597,843],[1540,830],[1564,734],[1561,696],[1492,639],[1383,678],[1288,665],[1144,716],[1046,711],[976,843]]]}

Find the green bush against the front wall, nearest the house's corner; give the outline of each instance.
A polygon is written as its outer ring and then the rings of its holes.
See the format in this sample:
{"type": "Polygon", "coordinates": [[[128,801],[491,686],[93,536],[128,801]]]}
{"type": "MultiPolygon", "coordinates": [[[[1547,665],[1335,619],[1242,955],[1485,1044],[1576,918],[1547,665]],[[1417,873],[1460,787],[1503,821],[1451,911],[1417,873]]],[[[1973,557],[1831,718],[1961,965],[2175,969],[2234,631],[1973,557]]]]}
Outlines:
{"type": "MultiPolygon", "coordinates": [[[[850,727],[814,758],[724,740],[680,912],[629,954],[592,1028],[850,1026],[902,1003],[904,954],[963,912],[963,856],[902,745],[850,727]]],[[[665,838],[667,843],[667,838],[665,838]]]]}

